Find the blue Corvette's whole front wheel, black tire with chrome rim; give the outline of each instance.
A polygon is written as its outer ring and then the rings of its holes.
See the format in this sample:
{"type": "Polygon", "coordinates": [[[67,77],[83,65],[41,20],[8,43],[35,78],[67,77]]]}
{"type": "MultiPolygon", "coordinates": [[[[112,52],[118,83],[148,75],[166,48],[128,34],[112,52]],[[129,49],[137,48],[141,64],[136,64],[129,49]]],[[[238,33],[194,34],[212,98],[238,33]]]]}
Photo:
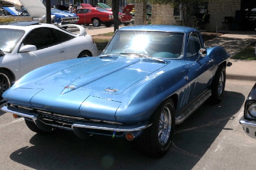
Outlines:
{"type": "Polygon", "coordinates": [[[164,101],[151,118],[152,125],[137,138],[137,147],[148,156],[160,158],[170,148],[175,128],[175,106],[172,99],[164,101]]]}

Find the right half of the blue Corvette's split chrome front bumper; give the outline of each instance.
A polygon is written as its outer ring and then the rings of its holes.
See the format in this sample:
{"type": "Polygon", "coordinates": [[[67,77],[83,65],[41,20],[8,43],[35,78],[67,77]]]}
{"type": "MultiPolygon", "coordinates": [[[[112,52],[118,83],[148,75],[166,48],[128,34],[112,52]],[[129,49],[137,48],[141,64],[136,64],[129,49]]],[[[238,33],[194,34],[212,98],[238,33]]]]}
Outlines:
{"type": "Polygon", "coordinates": [[[138,130],[143,130],[147,127],[150,127],[152,123],[134,127],[134,128],[111,128],[111,127],[103,127],[103,126],[93,126],[93,125],[84,125],[84,124],[73,124],[72,129],[74,127],[86,128],[86,129],[96,129],[96,130],[109,130],[109,131],[117,131],[117,132],[133,132],[138,130]]]}

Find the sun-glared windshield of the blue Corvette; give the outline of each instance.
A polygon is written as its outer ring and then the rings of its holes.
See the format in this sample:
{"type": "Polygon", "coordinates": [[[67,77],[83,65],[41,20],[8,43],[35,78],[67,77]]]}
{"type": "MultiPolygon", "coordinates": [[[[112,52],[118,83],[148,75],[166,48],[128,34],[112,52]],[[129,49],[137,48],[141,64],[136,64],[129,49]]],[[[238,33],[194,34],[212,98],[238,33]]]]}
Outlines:
{"type": "Polygon", "coordinates": [[[181,58],[183,33],[118,31],[102,55],[140,54],[154,58],[181,58]]]}

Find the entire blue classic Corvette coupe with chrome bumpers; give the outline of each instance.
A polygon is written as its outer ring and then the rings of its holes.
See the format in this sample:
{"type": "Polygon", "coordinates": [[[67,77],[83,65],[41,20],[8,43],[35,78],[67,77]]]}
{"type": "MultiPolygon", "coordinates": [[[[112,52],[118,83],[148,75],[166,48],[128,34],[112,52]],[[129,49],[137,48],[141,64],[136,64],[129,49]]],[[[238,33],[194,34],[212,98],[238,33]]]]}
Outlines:
{"type": "Polygon", "coordinates": [[[221,101],[230,55],[205,48],[198,30],[170,25],[123,27],[96,58],[43,66],[17,81],[5,112],[36,133],[56,128],[81,137],[124,137],[153,157],[169,149],[175,124],[207,99],[221,101]]]}

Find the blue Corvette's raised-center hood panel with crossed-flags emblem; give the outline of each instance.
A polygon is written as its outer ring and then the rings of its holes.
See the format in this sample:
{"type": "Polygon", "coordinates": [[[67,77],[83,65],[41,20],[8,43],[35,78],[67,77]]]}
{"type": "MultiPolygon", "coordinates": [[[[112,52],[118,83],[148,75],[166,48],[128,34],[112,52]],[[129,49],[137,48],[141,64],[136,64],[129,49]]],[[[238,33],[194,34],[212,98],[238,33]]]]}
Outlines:
{"type": "Polygon", "coordinates": [[[125,89],[166,66],[154,60],[131,57],[95,58],[55,72],[36,84],[61,88],[61,95],[76,89],[121,94],[125,89]]]}

